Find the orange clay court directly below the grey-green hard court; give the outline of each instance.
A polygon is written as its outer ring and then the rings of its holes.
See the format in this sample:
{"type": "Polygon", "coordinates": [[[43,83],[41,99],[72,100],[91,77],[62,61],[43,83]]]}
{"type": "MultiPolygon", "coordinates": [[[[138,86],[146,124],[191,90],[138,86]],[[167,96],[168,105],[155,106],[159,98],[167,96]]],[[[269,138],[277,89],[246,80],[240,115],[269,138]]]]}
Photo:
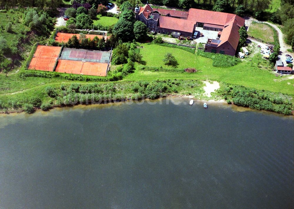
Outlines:
{"type": "Polygon", "coordinates": [[[60,59],[55,71],[59,73],[73,73],[88,76],[106,76],[107,67],[108,63],[60,59]]]}

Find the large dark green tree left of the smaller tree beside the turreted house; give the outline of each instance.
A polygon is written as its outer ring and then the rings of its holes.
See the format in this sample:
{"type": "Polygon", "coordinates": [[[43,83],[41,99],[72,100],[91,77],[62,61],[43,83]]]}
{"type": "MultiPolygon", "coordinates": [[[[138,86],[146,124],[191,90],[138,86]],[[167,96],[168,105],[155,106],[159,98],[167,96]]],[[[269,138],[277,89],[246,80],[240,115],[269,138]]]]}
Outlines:
{"type": "Polygon", "coordinates": [[[134,24],[126,19],[120,18],[114,25],[112,33],[123,41],[133,40],[134,24]]]}

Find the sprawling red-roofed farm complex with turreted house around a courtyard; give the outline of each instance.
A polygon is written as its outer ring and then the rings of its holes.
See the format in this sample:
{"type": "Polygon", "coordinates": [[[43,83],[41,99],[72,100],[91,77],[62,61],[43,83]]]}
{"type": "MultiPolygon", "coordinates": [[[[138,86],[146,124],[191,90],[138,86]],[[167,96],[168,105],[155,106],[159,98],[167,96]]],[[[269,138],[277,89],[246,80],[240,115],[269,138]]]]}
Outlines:
{"type": "Polygon", "coordinates": [[[189,9],[189,11],[175,11],[167,9],[153,9],[149,4],[136,6],[136,19],[146,24],[150,31],[170,34],[181,33],[192,36],[195,27],[205,30],[219,31],[219,39],[208,39],[205,51],[234,56],[239,42],[239,29],[245,20],[236,14],[189,9]]]}

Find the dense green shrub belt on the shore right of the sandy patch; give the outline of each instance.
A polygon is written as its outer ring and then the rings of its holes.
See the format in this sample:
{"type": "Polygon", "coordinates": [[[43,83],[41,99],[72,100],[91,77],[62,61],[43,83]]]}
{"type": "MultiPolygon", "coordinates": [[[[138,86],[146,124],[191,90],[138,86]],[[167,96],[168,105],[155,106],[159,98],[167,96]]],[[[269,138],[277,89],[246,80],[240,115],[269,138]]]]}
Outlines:
{"type": "Polygon", "coordinates": [[[223,96],[228,103],[257,110],[290,115],[293,108],[291,101],[280,93],[272,93],[231,84],[222,85],[217,90],[217,93],[223,96]]]}

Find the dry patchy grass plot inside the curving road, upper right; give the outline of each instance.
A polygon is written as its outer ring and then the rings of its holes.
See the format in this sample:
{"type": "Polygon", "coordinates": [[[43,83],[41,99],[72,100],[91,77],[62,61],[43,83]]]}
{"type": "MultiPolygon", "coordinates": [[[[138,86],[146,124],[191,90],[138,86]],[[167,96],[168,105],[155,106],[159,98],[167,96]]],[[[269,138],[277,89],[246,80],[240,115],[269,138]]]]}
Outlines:
{"type": "Polygon", "coordinates": [[[253,36],[256,39],[260,39],[263,42],[273,43],[274,32],[266,24],[254,23],[249,27],[249,36],[253,36]]]}

